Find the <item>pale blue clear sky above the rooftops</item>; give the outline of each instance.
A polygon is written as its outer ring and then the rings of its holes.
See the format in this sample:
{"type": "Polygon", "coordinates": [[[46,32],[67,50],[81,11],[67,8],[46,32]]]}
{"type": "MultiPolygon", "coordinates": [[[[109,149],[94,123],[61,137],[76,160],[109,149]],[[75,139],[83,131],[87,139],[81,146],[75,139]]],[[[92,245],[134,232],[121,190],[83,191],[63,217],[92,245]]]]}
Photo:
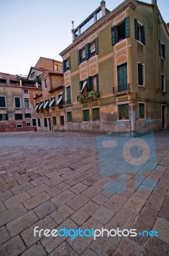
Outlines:
{"type": "MultiPolygon", "coordinates": [[[[112,11],[124,0],[106,0],[112,11]]],[[[72,42],[76,28],[101,0],[0,0],[0,72],[28,74],[41,57],[62,60],[59,52],[72,42]]],[[[151,0],[144,0],[151,3],[151,0]]],[[[165,22],[169,1],[158,0],[165,22]]]]}

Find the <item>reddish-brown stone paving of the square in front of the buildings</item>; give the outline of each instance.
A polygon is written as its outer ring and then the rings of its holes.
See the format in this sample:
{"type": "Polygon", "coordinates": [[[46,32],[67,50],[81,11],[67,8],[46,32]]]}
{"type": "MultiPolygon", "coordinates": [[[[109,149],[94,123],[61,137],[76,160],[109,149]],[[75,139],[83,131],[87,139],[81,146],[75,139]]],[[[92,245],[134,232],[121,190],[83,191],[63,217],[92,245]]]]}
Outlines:
{"type": "Polygon", "coordinates": [[[158,132],[158,165],[126,175],[126,193],[105,193],[96,135],[0,133],[0,255],[169,255],[169,131],[158,132]],[[147,182],[151,177],[158,186],[147,182]],[[141,186],[141,187],[140,187],[141,186]],[[136,189],[136,188],[137,189],[136,189]],[[143,189],[139,189],[143,188],[143,189]],[[39,237],[34,227],[158,230],[158,237],[39,237]]]}

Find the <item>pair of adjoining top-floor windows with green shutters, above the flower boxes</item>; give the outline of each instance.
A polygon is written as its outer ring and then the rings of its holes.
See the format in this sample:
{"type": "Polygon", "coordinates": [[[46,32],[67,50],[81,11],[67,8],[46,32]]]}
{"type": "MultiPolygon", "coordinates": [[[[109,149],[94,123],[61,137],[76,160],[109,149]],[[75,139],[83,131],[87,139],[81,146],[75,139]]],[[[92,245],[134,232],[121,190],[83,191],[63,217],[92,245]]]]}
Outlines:
{"type": "Polygon", "coordinates": [[[90,44],[86,44],[84,48],[77,51],[78,64],[82,63],[85,60],[88,60],[92,56],[99,53],[98,49],[98,38],[94,38],[90,44]]]}

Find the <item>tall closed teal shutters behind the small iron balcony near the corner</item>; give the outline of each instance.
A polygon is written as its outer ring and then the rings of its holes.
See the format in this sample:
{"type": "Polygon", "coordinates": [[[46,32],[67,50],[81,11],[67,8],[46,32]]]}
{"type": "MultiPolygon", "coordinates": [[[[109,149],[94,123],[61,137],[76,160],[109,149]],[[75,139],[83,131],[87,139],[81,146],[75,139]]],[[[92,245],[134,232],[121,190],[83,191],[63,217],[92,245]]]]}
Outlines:
{"type": "Polygon", "coordinates": [[[117,92],[128,90],[128,66],[124,63],[117,66],[117,92]]]}

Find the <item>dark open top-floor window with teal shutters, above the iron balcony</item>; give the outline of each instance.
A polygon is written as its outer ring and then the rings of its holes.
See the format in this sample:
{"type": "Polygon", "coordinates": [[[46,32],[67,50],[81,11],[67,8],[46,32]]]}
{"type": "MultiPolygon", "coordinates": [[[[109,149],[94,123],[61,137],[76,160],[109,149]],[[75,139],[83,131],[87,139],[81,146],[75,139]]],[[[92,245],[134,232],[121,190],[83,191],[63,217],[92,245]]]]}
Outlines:
{"type": "Polygon", "coordinates": [[[126,17],[120,24],[112,27],[112,45],[129,37],[129,17],[126,17]]]}

